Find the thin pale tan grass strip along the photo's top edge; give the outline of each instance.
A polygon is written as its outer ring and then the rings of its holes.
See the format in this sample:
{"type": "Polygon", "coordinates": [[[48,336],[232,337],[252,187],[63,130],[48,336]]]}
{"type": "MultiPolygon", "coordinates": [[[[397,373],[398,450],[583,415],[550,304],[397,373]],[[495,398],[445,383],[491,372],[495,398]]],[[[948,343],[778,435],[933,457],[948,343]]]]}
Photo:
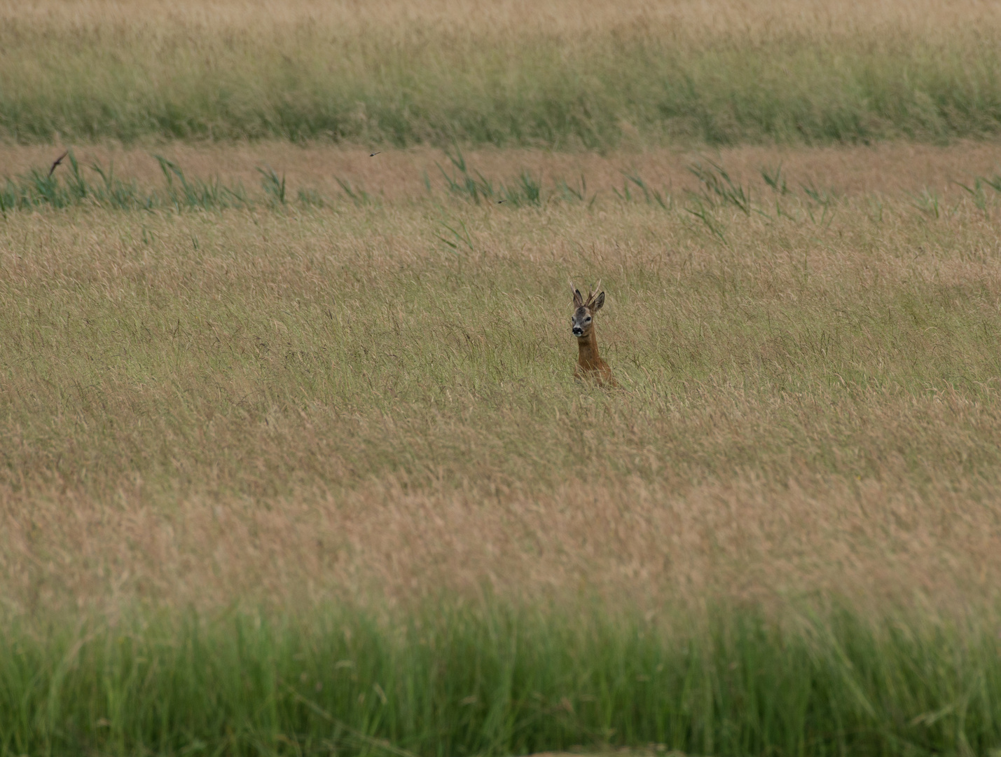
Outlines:
{"type": "MultiPolygon", "coordinates": [[[[609,30],[661,35],[679,41],[705,42],[721,36],[748,38],[767,44],[789,34],[812,39],[832,36],[895,33],[937,38],[957,28],[986,31],[1001,26],[1001,10],[982,0],[936,2],[883,0],[861,3],[856,0],[625,0],[592,2],[574,0],[498,0],[483,4],[473,0],[375,0],[322,2],[292,0],[222,0],[163,4],[149,0],[93,1],[34,0],[4,3],[0,21],[16,37],[28,28],[50,34],[91,33],[101,30],[121,41],[139,36],[154,42],[175,34],[249,34],[263,39],[281,39],[291,34],[300,38],[329,35],[335,39],[355,38],[377,32],[387,39],[419,37],[427,28],[440,29],[456,39],[509,35],[548,36],[588,35],[609,30]]],[[[892,44],[893,39],[885,40],[892,44]]]]}

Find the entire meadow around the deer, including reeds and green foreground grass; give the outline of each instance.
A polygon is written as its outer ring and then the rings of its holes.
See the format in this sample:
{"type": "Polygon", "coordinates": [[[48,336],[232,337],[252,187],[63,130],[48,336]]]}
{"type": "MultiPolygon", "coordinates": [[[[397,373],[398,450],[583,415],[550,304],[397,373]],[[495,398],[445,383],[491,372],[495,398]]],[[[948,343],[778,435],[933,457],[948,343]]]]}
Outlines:
{"type": "Polygon", "coordinates": [[[168,147],[4,148],[4,754],[999,748],[997,145],[168,147]]]}

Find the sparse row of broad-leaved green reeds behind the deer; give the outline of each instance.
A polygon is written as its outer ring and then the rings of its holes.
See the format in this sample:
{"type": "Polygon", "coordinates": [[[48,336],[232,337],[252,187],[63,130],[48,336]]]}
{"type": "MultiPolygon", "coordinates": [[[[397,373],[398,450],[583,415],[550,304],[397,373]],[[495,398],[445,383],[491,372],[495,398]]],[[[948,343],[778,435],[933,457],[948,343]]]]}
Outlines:
{"type": "MultiPolygon", "coordinates": [[[[591,208],[599,196],[597,191],[589,191],[587,177],[583,173],[578,181],[563,179],[547,187],[541,178],[523,170],[515,181],[506,183],[487,178],[470,167],[461,150],[446,151],[445,155],[447,170],[440,164],[437,169],[446,193],[470,203],[539,208],[554,202],[569,202],[591,208]]],[[[300,187],[293,198],[286,188],[284,175],[279,176],[269,166],[257,168],[260,192],[252,197],[242,183],[225,184],[218,177],[207,180],[188,177],[177,163],[160,155],[154,157],[162,170],[164,186],[160,190],[145,191],[135,180],[115,176],[113,165],[105,168],[98,162],[92,163],[88,178],[87,169],[82,168],[73,151],[68,150],[60,158],[60,161],[67,159],[65,169],[53,164],[47,171],[33,168],[26,174],[6,177],[0,184],[0,213],[45,207],[62,209],[85,204],[123,210],[219,210],[260,205],[271,208],[290,205],[323,207],[337,201],[350,201],[355,205],[379,202],[379,197],[366,191],[360,183],[352,184],[349,179],[339,176],[335,178],[341,189],[340,197],[329,197],[316,189],[300,187]]],[[[622,188],[612,187],[612,195],[624,203],[644,202],[667,211],[684,211],[724,241],[725,226],[716,213],[720,208],[732,207],[747,216],[757,214],[773,219],[785,217],[798,221],[809,218],[822,224],[830,222],[836,209],[838,195],[835,191],[818,188],[812,182],[791,187],[781,163],[776,167],[761,168],[761,191],[735,180],[724,166],[712,159],[692,163],[689,171],[698,180],[697,190],[686,189],[676,195],[666,188],[654,187],[636,171],[623,171],[622,188]],[[792,209],[783,204],[790,199],[799,200],[792,209]]],[[[427,174],[424,174],[424,185],[428,194],[433,195],[435,187],[427,174]]],[[[957,182],[957,186],[981,212],[987,214],[997,195],[1001,194],[1001,176],[975,176],[970,184],[957,182]]],[[[881,220],[882,201],[875,199],[871,204],[871,217],[881,220]]],[[[949,213],[941,196],[927,188],[913,194],[910,205],[929,218],[949,213]]],[[[461,241],[460,234],[449,230],[461,241]]],[[[451,241],[447,243],[456,246],[451,241]]]]}

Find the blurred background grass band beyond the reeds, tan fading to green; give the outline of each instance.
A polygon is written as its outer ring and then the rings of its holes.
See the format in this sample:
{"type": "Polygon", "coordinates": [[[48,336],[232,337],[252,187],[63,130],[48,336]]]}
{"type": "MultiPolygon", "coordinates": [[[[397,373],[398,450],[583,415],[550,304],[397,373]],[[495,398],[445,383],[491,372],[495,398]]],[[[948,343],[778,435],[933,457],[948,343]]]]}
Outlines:
{"type": "Polygon", "coordinates": [[[1001,131],[986,5],[12,6],[0,136],[558,149],[1001,131]]]}

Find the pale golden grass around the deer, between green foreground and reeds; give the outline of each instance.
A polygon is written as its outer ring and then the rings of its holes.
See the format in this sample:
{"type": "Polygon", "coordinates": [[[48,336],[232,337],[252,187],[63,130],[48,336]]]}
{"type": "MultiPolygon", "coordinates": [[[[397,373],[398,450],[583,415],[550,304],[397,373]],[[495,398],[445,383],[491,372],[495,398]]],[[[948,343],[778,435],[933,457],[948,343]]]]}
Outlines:
{"type": "MultiPolygon", "coordinates": [[[[246,170],[239,150],[176,149],[246,170]]],[[[856,193],[829,225],[802,196],[796,222],[718,210],[726,244],[682,207],[607,192],[590,211],[393,194],[429,153],[301,153],[371,170],[352,178],[399,198],[378,207],[8,214],[6,609],[486,588],[992,602],[1001,210],[957,195],[931,218],[901,187],[983,172],[997,148],[895,158],[910,149],[727,153],[856,193]],[[858,188],[888,192],[882,219],[858,188]],[[456,251],[442,224],[459,222],[456,251]],[[599,337],[625,392],[571,380],[568,276],[605,282],[599,337]]],[[[615,176],[613,158],[575,159],[615,176]]],[[[659,159],[648,178],[681,180],[659,159]]]]}

